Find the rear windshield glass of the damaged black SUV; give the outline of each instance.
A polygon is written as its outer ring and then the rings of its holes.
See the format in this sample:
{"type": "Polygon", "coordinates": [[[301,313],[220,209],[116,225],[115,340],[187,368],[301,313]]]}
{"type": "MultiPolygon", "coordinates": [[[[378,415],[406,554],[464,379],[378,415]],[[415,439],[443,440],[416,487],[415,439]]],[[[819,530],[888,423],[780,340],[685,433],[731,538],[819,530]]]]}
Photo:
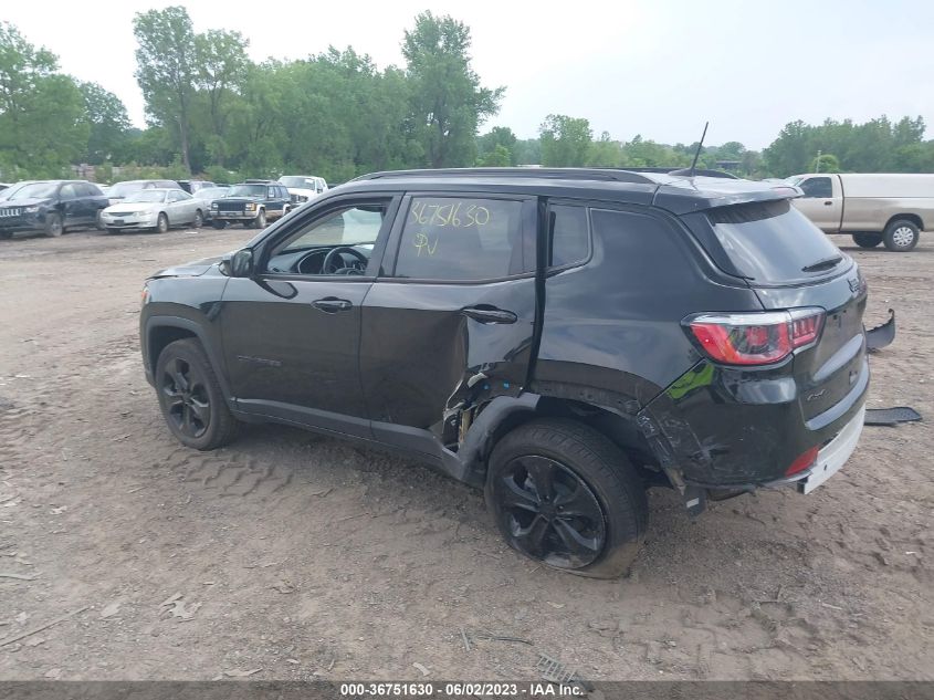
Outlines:
{"type": "Polygon", "coordinates": [[[766,284],[835,273],[846,257],[787,199],[711,209],[707,218],[736,270],[766,284]],[[835,259],[839,259],[836,264],[835,259]],[[810,270],[817,263],[826,263],[810,270]]]}

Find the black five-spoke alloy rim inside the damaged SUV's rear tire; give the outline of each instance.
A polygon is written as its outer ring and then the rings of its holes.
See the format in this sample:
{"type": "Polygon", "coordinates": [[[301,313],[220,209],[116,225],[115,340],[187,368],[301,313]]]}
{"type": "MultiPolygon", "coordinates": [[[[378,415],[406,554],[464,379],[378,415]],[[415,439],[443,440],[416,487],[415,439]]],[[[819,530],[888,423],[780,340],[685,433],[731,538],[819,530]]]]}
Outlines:
{"type": "Polygon", "coordinates": [[[547,457],[516,457],[492,484],[511,544],[550,566],[580,568],[607,542],[597,497],[575,472],[547,457]]]}

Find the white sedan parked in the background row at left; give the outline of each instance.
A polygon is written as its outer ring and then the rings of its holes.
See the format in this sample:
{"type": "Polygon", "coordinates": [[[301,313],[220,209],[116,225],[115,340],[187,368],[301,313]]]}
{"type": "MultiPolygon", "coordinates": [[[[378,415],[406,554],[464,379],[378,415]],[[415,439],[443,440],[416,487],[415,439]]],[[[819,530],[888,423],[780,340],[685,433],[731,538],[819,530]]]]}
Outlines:
{"type": "Polygon", "coordinates": [[[157,188],[134,192],[101,212],[101,224],[107,231],[146,229],[165,233],[172,226],[204,222],[204,202],[181,189],[157,188]]]}

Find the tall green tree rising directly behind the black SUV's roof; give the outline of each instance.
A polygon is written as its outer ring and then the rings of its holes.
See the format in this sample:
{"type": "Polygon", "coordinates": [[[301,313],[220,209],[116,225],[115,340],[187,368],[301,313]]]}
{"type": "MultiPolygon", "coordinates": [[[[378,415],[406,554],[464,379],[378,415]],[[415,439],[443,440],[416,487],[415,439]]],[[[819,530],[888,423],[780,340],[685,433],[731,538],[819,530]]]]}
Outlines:
{"type": "Polygon", "coordinates": [[[473,161],[480,123],[499,109],[504,88],[480,85],[471,67],[470,29],[449,15],[431,12],[416,17],[406,31],[402,55],[411,81],[411,130],[428,165],[468,165],[473,161]]]}

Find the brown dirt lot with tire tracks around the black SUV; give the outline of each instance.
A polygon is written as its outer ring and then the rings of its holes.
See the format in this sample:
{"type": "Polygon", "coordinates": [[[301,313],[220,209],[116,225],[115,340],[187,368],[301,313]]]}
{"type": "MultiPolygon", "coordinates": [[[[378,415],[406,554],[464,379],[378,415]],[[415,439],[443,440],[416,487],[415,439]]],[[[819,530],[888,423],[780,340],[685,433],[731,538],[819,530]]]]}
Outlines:
{"type": "MultiPolygon", "coordinates": [[[[141,281],[252,234],[0,241],[0,678],[515,680],[545,654],[594,680],[934,679],[930,422],[868,427],[808,497],[691,521],[653,491],[615,582],[514,554],[479,492],[411,461],[276,426],[179,447],[140,367],[141,281]]],[[[870,406],[930,421],[934,233],[836,242],[867,325],[899,317],[870,406]]]]}

